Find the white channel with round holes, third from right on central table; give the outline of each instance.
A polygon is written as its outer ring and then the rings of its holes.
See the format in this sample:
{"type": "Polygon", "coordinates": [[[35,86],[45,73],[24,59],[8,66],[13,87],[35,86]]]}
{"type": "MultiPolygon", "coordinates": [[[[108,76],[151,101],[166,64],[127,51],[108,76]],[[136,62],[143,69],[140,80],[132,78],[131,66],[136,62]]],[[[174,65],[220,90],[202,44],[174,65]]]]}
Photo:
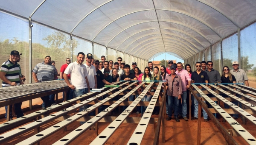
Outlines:
{"type": "MultiPolygon", "coordinates": [[[[140,86],[142,86],[143,84],[145,84],[145,82],[142,82],[140,85],[138,85],[137,87],[132,89],[130,92],[128,92],[125,96],[123,96],[118,101],[116,101],[116,103],[113,103],[107,109],[105,109],[104,111],[100,112],[95,117],[93,117],[92,119],[88,120],[87,123],[84,123],[79,128],[76,128],[75,131],[70,132],[65,137],[63,137],[60,140],[58,140],[57,142],[55,142],[53,145],[67,145],[72,140],[76,139],[76,137],[78,137],[80,134],[82,134],[84,131],[86,131],[88,128],[90,128],[93,124],[97,123],[105,115],[107,115],[109,112],[113,111],[113,109],[115,109],[117,106],[119,106],[123,101],[125,101],[129,96],[131,96],[132,93],[134,93],[137,89],[139,89],[140,86]]],[[[113,96],[113,97],[115,97],[115,96],[113,96]]]]}

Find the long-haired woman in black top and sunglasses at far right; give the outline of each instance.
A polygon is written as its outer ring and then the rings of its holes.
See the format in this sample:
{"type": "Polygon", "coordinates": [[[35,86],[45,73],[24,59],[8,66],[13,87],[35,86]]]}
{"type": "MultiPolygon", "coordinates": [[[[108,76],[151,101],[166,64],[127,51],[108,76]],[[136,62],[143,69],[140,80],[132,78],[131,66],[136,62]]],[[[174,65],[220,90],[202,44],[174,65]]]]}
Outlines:
{"type": "MultiPolygon", "coordinates": [[[[222,69],[222,75],[221,75],[221,83],[236,83],[236,78],[234,75],[230,73],[230,69],[228,66],[224,66],[222,69]]],[[[227,84],[226,84],[227,86],[227,84]]],[[[224,89],[227,90],[227,89],[224,89]]],[[[228,98],[226,94],[222,95],[224,98],[228,98]]],[[[232,102],[233,103],[233,102],[232,102]]],[[[224,103],[224,108],[229,109],[229,105],[224,103]]],[[[233,117],[237,118],[238,114],[233,114],[233,117]]],[[[223,118],[222,122],[226,122],[226,120],[223,118]]]]}

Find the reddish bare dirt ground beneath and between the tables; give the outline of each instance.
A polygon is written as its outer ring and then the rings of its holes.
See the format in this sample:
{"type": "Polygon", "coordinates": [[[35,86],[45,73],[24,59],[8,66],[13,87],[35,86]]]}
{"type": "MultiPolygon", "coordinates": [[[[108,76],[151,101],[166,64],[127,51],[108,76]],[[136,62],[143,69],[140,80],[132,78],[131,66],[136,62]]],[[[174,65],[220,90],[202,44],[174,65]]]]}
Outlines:
{"type": "MultiPolygon", "coordinates": [[[[249,81],[250,86],[256,87],[256,82],[249,81]]],[[[59,98],[62,98],[62,94],[59,93],[59,98]]],[[[34,99],[33,105],[35,105],[32,111],[26,111],[24,113],[29,114],[41,109],[41,99],[34,99]],[[37,105],[36,105],[37,104],[37,105]]],[[[23,102],[24,107],[28,107],[28,101],[23,102]]],[[[223,103],[221,103],[223,107],[223,103]]],[[[0,114],[4,114],[4,107],[0,108],[0,114]]],[[[70,114],[72,115],[72,114],[70,114]]],[[[3,115],[2,115],[3,116],[3,115]]],[[[131,114],[130,117],[140,117],[140,114],[131,114]]],[[[158,115],[153,115],[152,117],[158,117],[158,115]]],[[[13,118],[15,119],[15,117],[13,118]]],[[[201,119],[203,120],[203,118],[201,119]]],[[[222,120],[222,119],[220,119],[222,120]]],[[[0,118],[0,123],[5,123],[5,118],[0,118]]],[[[247,131],[250,132],[254,137],[256,137],[256,127],[253,123],[248,121],[246,125],[242,124],[241,118],[237,119],[237,122],[240,123],[247,131]]],[[[52,121],[43,126],[41,126],[41,131],[46,128],[49,128],[52,125],[59,123],[59,121],[52,121]]],[[[232,128],[227,122],[220,122],[224,128],[232,128]]],[[[99,133],[101,133],[110,123],[99,123],[99,133]]],[[[65,135],[69,134],[71,131],[75,130],[79,127],[79,122],[71,123],[67,126],[67,131],[63,129],[55,132],[49,137],[43,139],[40,144],[41,145],[51,145],[54,142],[58,141],[65,135]]],[[[105,145],[124,145],[128,142],[129,138],[133,134],[137,124],[131,123],[122,123],[120,127],[116,130],[116,132],[111,136],[110,139],[105,143],[105,145]]],[[[179,123],[175,122],[174,119],[170,121],[165,121],[165,145],[196,145],[197,142],[197,131],[198,131],[198,120],[185,121],[183,119],[180,120],[179,123]]],[[[29,131],[25,134],[22,134],[18,137],[13,138],[7,142],[0,142],[0,145],[13,145],[21,142],[22,140],[31,137],[34,135],[34,131],[29,131]]],[[[1,136],[1,135],[0,135],[1,136]]],[[[81,136],[77,137],[71,145],[88,145],[93,139],[96,138],[96,131],[87,130],[81,136]]],[[[247,145],[247,142],[241,137],[233,137],[240,145],[247,145]]],[[[160,133],[160,140],[161,140],[160,133]]],[[[149,124],[148,128],[145,132],[143,140],[141,142],[142,145],[151,145],[154,141],[154,125],[149,124]]],[[[212,123],[212,120],[209,122],[201,123],[201,145],[225,145],[226,141],[222,136],[221,132],[218,131],[218,128],[212,123]]]]}

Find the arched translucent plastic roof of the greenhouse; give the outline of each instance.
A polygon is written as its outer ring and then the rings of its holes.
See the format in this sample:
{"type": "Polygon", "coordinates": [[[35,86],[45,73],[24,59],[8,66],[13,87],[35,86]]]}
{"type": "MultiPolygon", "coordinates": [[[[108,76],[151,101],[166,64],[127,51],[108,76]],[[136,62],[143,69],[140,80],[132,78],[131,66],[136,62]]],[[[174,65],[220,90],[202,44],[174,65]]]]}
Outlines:
{"type": "Polygon", "coordinates": [[[1,0],[0,10],[142,59],[188,59],[256,20],[256,0],[1,0]]]}

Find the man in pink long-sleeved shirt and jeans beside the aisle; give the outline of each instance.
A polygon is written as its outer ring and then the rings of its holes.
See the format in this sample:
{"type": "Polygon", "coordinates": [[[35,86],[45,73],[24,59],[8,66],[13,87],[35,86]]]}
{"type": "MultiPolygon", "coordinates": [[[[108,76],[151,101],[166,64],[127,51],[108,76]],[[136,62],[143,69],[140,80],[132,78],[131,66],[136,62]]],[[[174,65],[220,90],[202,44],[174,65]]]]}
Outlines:
{"type": "Polygon", "coordinates": [[[182,95],[181,95],[181,101],[179,100],[179,114],[181,117],[183,117],[184,120],[188,121],[187,118],[187,93],[186,90],[189,89],[189,86],[191,86],[191,78],[186,70],[183,70],[183,65],[181,62],[177,63],[177,71],[175,72],[177,75],[181,78],[181,84],[182,84],[182,95]]]}

